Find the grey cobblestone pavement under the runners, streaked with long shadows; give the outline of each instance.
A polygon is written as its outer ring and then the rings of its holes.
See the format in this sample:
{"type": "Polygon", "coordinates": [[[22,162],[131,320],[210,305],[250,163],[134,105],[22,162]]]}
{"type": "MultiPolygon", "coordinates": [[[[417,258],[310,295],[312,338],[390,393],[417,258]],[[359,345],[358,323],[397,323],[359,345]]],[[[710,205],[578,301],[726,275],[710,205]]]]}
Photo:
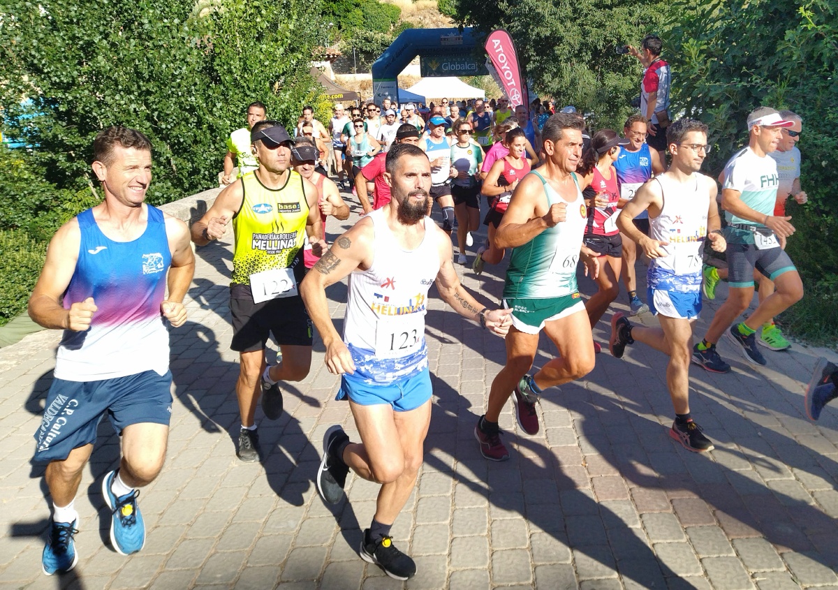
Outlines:
{"type": "MultiPolygon", "coordinates": [[[[348,224],[330,219],[329,235],[348,224]]],[[[427,315],[426,463],[394,527],[418,573],[406,584],[385,577],[356,553],[375,485],[350,477],[351,503],[326,507],[313,484],[323,432],[341,423],[356,437],[316,337],[308,378],[283,388],[286,412],[277,422],[257,413],[262,462],[235,458],[230,241],[199,248],[189,323],[172,332],[168,460],[142,489],[147,542],[137,555],[120,556],[107,541],[101,479],[116,466],[118,439],[105,421],[75,500],[79,565],[64,577],[41,573],[49,505],[43,469],[28,460],[59,334],[0,350],[0,587],[838,588],[838,406],[813,425],[802,404],[815,358],[835,355],[795,344],[754,369],[722,342],[731,374],[691,368],[693,415],[716,443],[696,455],[667,433],[664,355],[642,345],[623,360],[603,352],[587,379],[546,393],[537,436],[520,432],[510,404],[501,417],[510,461],[489,464],[473,427],[504,343],[438,298],[427,315]]],[[[503,266],[487,265],[481,277],[458,272],[486,303],[497,300],[503,266]]],[[[328,292],[338,323],[345,292],[342,283],[328,292]]],[[[719,298],[726,294],[722,285],[719,298]]],[[[624,309],[623,299],[615,307],[624,309]]],[[[716,305],[706,305],[698,334],[716,305]]],[[[606,328],[597,326],[600,343],[606,328]]],[[[535,365],[554,354],[542,337],[535,365]]]]}

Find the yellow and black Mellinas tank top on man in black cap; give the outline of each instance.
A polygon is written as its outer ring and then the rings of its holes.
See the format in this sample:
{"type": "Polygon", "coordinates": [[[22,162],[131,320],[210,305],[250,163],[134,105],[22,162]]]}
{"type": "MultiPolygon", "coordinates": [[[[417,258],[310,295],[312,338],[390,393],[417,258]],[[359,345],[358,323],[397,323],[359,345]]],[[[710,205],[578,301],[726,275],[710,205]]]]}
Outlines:
{"type": "Polygon", "coordinates": [[[245,198],[233,218],[233,284],[249,285],[255,272],[288,267],[294,267],[295,275],[298,270],[302,280],[303,264],[295,260],[302,258],[308,220],[303,177],[289,170],[282,189],[268,189],[256,172],[249,172],[241,184],[245,198]]]}

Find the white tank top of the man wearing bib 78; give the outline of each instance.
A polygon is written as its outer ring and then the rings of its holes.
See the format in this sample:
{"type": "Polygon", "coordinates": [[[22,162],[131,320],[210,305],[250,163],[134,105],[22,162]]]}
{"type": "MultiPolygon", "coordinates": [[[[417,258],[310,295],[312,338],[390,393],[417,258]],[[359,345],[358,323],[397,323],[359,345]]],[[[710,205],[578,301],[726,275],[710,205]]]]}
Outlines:
{"type": "Polygon", "coordinates": [[[707,237],[707,209],[710,183],[704,174],[693,173],[694,181],[675,184],[666,174],[654,177],[660,184],[664,206],[660,215],[649,217],[649,237],[669,242],[661,246],[666,256],[649,261],[649,288],[665,291],[699,292],[701,261],[707,237]]]}

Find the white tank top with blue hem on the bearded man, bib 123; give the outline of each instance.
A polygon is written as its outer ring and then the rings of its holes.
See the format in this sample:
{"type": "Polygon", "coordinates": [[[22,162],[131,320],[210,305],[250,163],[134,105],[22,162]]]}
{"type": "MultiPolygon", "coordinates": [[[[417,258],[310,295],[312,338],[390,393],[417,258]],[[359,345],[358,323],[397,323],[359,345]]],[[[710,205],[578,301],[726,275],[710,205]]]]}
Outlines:
{"type": "Polygon", "coordinates": [[[349,275],[344,342],[355,376],[366,383],[391,383],[427,367],[427,291],[439,274],[439,251],[430,236],[406,251],[393,236],[383,210],[367,215],[375,231],[375,258],[366,271],[349,275]]]}

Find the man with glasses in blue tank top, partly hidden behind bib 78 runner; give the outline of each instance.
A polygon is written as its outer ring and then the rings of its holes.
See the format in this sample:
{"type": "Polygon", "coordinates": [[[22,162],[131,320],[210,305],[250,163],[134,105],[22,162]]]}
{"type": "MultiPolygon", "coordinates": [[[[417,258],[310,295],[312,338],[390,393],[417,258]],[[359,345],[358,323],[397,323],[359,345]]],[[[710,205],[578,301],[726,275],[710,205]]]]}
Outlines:
{"type": "MultiPolygon", "coordinates": [[[[646,143],[646,117],[632,115],[623,125],[623,137],[629,140],[620,150],[619,158],[614,163],[617,169],[617,181],[620,185],[619,207],[634,198],[637,189],[655,174],[664,172],[664,163],[656,149],[649,149],[646,143]]],[[[634,226],[645,235],[649,235],[649,213],[644,211],[634,220],[634,226]]],[[[628,237],[628,236],[624,236],[628,237]]],[[[623,284],[629,293],[629,315],[635,316],[649,311],[637,294],[637,245],[634,240],[623,240],[623,284]]]]}

